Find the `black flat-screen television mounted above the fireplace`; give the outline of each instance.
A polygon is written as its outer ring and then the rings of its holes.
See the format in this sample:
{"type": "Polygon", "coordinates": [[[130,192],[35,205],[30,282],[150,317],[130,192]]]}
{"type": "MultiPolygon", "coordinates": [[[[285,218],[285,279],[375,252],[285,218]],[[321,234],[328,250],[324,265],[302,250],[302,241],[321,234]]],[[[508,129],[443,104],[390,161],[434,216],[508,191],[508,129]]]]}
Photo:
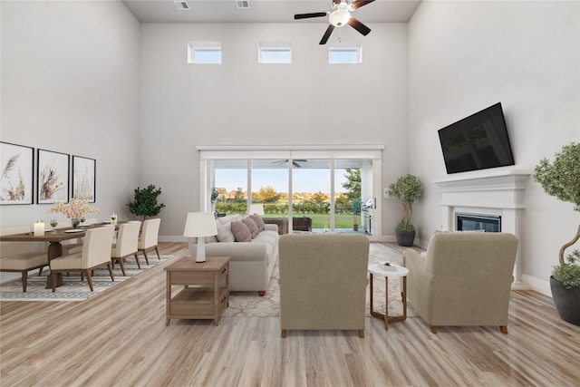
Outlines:
{"type": "Polygon", "coordinates": [[[501,102],[439,131],[447,173],[514,165],[501,102]]]}

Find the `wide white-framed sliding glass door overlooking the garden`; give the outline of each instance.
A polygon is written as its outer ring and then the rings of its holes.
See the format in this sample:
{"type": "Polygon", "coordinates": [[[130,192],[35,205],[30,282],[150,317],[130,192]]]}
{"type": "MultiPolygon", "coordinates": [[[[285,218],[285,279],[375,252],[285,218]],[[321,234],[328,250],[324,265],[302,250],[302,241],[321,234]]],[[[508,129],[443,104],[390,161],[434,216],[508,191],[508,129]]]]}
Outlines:
{"type": "MultiPolygon", "coordinates": [[[[200,155],[201,208],[211,206],[213,189],[220,214],[263,211],[263,217],[287,219],[289,231],[310,222],[296,218],[310,218],[314,232],[377,232],[363,225],[380,193],[381,151],[202,149],[200,155]],[[356,157],[336,157],[341,154],[356,157]]],[[[378,214],[371,215],[377,224],[378,214]]]]}

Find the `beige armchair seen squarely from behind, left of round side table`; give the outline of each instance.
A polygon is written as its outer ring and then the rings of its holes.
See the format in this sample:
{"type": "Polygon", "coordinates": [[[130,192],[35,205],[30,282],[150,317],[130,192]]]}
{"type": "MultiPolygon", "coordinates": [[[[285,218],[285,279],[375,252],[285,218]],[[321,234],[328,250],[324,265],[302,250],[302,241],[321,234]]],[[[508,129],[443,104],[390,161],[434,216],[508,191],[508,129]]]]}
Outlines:
{"type": "Polygon", "coordinates": [[[285,234],[279,239],[280,327],[359,331],[364,337],[369,239],[285,234]]]}

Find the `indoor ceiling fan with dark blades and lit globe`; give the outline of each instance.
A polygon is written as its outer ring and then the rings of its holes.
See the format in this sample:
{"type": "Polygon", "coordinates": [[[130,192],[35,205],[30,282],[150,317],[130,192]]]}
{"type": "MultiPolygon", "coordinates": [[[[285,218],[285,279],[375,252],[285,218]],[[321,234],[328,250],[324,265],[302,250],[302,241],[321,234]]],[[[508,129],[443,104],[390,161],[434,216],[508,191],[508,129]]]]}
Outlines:
{"type": "Polygon", "coordinates": [[[328,17],[328,28],[320,41],[320,44],[326,44],[330,34],[333,33],[334,27],[342,27],[344,24],[349,24],[356,31],[366,36],[371,32],[371,29],[366,25],[362,24],[356,20],[352,15],[355,9],[362,7],[362,5],[367,5],[372,3],[374,0],[354,0],[349,3],[348,0],[333,0],[333,4],[330,7],[330,12],[315,12],[313,14],[298,14],[294,15],[295,20],[297,19],[308,19],[311,17],[322,17],[329,15],[328,17]]]}

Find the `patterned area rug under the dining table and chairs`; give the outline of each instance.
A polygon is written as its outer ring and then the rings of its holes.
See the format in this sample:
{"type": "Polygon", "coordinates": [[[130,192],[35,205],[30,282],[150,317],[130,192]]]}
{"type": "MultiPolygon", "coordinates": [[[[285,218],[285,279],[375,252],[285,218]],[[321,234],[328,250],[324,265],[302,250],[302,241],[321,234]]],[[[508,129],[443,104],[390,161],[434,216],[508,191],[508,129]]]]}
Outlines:
{"type": "Polygon", "coordinates": [[[92,276],[92,287],[94,291],[89,288],[86,276],[81,281],[81,273],[70,273],[66,276],[63,274],[63,285],[56,288],[53,293],[52,289],[45,289],[46,276],[50,270],[45,267],[43,275],[38,276],[38,270],[32,270],[28,274],[28,281],[26,281],[26,293],[22,291],[22,281],[16,281],[0,285],[0,301],[84,301],[95,295],[111,289],[113,286],[121,285],[124,281],[137,276],[145,270],[155,267],[173,256],[160,256],[158,259],[156,255],[149,257],[149,266],[145,263],[143,256],[139,257],[141,268],[137,266],[135,257],[127,257],[125,259],[125,276],[122,275],[121,266],[115,264],[113,268],[113,276],[115,281],[111,281],[109,270],[106,266],[95,269],[92,276]]]}

